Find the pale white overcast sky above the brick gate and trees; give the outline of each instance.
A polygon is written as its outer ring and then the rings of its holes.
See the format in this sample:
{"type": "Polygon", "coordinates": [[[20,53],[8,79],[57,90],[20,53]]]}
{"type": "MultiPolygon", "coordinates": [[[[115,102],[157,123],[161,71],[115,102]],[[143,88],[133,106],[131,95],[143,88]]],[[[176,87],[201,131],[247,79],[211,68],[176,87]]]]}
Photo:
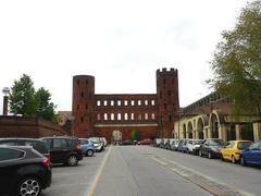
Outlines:
{"type": "Polygon", "coordinates": [[[71,110],[73,75],[94,75],[97,94],[156,94],[157,69],[175,68],[185,107],[210,93],[209,61],[246,3],[0,1],[0,88],[25,73],[50,90],[57,110],[71,110]]]}

